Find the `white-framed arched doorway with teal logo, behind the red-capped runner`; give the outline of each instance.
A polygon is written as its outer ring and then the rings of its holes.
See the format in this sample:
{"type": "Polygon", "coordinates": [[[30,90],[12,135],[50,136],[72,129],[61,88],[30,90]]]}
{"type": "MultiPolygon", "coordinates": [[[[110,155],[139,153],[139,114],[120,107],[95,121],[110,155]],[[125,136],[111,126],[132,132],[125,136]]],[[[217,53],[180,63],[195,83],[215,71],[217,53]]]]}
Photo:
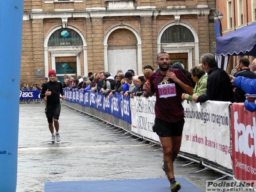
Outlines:
{"type": "Polygon", "coordinates": [[[86,39],[78,29],[52,29],[45,38],[45,76],[50,68],[56,70],[61,81],[67,74],[81,75],[81,66],[84,74],[88,73],[86,47],[86,39]]]}

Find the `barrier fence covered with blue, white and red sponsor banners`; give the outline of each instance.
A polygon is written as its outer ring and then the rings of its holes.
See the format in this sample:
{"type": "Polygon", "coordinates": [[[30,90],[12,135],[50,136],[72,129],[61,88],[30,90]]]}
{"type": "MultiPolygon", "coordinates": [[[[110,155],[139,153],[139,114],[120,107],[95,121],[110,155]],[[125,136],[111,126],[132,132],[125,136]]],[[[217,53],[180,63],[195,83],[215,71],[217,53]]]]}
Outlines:
{"type": "MultiPolygon", "coordinates": [[[[70,108],[95,116],[138,138],[160,144],[157,134],[152,131],[156,97],[130,98],[119,93],[108,97],[81,90],[64,92],[66,100],[63,104],[70,108]]],[[[255,180],[255,113],[244,113],[243,103],[184,101],[182,105],[185,124],[179,156],[236,180],[255,180]]]]}

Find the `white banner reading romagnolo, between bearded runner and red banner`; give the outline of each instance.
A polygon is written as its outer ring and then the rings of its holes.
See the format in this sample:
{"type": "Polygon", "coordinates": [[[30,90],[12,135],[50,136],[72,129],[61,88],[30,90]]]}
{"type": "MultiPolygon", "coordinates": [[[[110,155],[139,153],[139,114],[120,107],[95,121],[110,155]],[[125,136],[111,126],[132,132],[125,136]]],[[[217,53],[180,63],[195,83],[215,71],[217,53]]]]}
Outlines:
{"type": "Polygon", "coordinates": [[[180,150],[232,169],[230,156],[230,102],[182,102],[185,125],[180,150]]]}

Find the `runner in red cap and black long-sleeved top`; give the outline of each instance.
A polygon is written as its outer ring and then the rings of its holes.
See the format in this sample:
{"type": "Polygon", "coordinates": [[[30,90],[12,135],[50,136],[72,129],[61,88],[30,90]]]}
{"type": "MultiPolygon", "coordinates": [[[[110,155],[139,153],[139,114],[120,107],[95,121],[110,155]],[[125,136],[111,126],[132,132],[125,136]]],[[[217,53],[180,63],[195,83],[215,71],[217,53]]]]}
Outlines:
{"type": "Polygon", "coordinates": [[[60,142],[60,133],[59,133],[59,116],[60,116],[60,95],[61,99],[66,99],[62,84],[58,81],[55,81],[56,72],[55,70],[49,70],[49,79],[48,83],[45,83],[42,92],[40,93],[41,98],[45,98],[45,115],[47,117],[49,129],[52,134],[52,143],[60,142]],[[54,127],[56,132],[54,133],[54,127]]]}

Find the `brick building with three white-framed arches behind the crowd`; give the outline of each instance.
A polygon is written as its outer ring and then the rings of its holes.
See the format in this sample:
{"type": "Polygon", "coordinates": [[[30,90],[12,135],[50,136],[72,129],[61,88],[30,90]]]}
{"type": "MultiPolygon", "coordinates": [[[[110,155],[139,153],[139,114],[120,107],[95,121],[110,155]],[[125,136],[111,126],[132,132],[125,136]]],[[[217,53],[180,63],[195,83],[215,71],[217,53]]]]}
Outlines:
{"type": "Polygon", "coordinates": [[[215,52],[214,0],[24,0],[21,81],[156,66],[158,52],[186,69],[215,52]]]}

